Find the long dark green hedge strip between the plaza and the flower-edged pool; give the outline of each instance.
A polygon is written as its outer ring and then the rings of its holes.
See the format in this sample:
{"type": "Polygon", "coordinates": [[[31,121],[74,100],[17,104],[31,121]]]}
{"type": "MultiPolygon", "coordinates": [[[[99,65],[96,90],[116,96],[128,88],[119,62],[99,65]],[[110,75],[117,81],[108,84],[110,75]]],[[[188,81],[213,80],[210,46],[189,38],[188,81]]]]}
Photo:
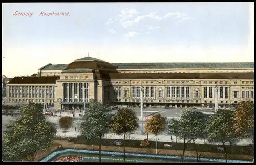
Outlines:
{"type": "MultiPolygon", "coordinates": [[[[98,139],[95,140],[87,140],[83,136],[79,136],[77,138],[61,138],[61,139],[68,139],[70,141],[74,141],[74,143],[78,144],[87,144],[87,145],[98,145],[98,139]]],[[[115,142],[122,142],[122,139],[102,139],[102,145],[103,146],[123,146],[121,145],[116,145],[115,142]]],[[[135,147],[135,148],[142,148],[140,146],[141,140],[125,140],[125,146],[126,147],[135,147]]],[[[225,153],[224,151],[220,151],[217,148],[222,147],[222,145],[215,145],[215,144],[197,144],[196,147],[194,148],[193,143],[188,143],[186,144],[186,151],[196,151],[198,150],[199,152],[211,152],[211,153],[225,153]]],[[[156,142],[155,141],[150,141],[150,145],[143,147],[143,148],[156,148],[156,142]]],[[[157,148],[158,149],[172,149],[172,150],[183,150],[183,143],[176,143],[176,142],[157,142],[157,148]],[[169,144],[172,147],[166,148],[164,147],[165,144],[169,144]]],[[[235,155],[254,155],[254,146],[249,145],[249,146],[230,146],[226,145],[226,149],[228,151],[228,154],[235,154],[235,155]]]]}

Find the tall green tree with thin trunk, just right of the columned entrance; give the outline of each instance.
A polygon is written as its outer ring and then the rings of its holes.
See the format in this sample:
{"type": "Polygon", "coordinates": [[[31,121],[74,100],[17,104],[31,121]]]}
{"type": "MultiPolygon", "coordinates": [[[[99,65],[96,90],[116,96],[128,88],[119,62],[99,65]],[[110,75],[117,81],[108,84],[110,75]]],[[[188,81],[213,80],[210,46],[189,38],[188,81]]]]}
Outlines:
{"type": "Polygon", "coordinates": [[[84,121],[80,125],[81,135],[87,139],[98,139],[99,161],[101,162],[102,137],[108,131],[111,109],[101,103],[90,101],[84,121]]]}

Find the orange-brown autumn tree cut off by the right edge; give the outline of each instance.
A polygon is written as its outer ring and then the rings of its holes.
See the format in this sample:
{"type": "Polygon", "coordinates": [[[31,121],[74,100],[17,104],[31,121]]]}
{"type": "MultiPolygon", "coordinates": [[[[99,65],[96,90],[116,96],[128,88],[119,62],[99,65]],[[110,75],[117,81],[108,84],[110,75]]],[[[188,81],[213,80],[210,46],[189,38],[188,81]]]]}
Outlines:
{"type": "Polygon", "coordinates": [[[240,103],[234,113],[234,130],[241,138],[249,137],[254,143],[254,104],[251,101],[240,103]]]}

